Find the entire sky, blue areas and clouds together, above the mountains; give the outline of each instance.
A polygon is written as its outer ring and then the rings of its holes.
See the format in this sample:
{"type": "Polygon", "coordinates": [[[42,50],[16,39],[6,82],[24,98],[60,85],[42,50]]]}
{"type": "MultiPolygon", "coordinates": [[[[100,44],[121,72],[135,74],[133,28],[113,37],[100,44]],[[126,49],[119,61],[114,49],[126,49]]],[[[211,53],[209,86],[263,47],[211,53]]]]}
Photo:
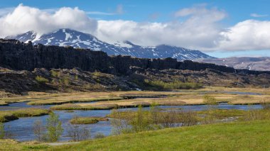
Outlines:
{"type": "Polygon", "coordinates": [[[269,0],[0,3],[0,37],[72,28],[108,43],[175,45],[214,57],[270,57],[269,0]]]}

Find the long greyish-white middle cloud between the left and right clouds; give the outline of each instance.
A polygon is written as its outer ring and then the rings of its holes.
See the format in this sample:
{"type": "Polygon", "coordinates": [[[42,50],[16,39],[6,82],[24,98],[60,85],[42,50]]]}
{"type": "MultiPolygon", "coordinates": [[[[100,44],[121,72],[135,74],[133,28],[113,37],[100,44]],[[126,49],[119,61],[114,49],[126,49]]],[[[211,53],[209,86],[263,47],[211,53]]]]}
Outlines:
{"type": "Polygon", "coordinates": [[[208,50],[215,47],[227,14],[217,9],[193,7],[175,13],[176,17],[190,16],[183,22],[138,23],[135,21],[98,21],[97,37],[105,41],[130,40],[139,45],[176,45],[208,50]]]}

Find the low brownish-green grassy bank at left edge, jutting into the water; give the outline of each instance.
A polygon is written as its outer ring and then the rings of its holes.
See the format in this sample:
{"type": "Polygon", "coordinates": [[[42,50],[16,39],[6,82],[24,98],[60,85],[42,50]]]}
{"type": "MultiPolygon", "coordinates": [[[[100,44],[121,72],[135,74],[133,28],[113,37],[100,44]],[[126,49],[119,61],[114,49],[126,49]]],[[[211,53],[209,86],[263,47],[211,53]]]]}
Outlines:
{"type": "Polygon", "coordinates": [[[12,111],[0,111],[0,122],[9,122],[17,120],[18,118],[31,116],[45,116],[50,113],[50,110],[42,108],[26,108],[12,111]]]}

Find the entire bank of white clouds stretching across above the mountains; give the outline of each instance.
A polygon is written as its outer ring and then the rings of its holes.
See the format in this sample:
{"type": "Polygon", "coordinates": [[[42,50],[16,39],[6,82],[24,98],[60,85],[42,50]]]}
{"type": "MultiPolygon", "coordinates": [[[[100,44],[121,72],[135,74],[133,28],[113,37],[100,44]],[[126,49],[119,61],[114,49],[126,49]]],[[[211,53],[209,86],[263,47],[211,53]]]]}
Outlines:
{"type": "MultiPolygon", "coordinates": [[[[119,6],[115,13],[123,13],[119,6]]],[[[266,50],[270,49],[270,21],[247,20],[225,28],[221,21],[227,13],[217,8],[193,6],[176,11],[174,21],[164,23],[136,21],[96,21],[78,8],[36,9],[20,4],[10,12],[0,9],[0,36],[34,30],[48,33],[58,28],[72,28],[114,43],[129,40],[138,45],[175,45],[190,49],[266,50]],[[1,13],[4,12],[4,13],[1,13]]],[[[109,15],[109,13],[107,14],[109,15]]]]}

